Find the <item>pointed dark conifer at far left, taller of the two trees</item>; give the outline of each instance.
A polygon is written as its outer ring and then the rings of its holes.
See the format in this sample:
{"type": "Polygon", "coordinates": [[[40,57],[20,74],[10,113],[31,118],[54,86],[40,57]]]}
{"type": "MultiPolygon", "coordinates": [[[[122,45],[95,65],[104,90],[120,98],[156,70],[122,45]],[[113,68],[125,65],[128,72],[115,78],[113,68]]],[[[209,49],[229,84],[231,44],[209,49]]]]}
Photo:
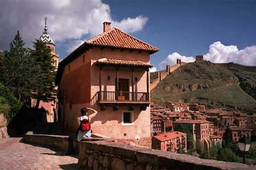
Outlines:
{"type": "Polygon", "coordinates": [[[19,31],[10,44],[10,50],[4,51],[0,63],[0,81],[8,87],[12,94],[21,102],[28,102],[32,97],[33,85],[37,69],[30,58],[29,51],[23,46],[19,31]]]}

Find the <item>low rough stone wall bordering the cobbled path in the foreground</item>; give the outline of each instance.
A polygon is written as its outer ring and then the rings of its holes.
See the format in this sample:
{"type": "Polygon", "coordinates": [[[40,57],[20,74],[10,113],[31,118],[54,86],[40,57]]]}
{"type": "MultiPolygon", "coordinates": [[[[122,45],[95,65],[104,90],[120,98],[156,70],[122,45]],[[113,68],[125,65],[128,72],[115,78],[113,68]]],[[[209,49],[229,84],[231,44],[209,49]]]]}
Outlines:
{"type": "MultiPolygon", "coordinates": [[[[67,136],[28,132],[22,142],[67,151],[67,136]]],[[[79,166],[85,169],[256,169],[256,166],[204,160],[197,156],[134,147],[112,139],[73,141],[79,166]]]]}

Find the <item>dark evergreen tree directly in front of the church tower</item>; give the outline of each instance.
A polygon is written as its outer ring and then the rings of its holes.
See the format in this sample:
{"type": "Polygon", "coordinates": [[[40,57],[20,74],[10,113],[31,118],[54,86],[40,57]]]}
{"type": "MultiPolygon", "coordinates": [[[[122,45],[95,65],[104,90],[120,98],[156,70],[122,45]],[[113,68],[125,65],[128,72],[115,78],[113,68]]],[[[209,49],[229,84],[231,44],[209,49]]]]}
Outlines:
{"type": "Polygon", "coordinates": [[[31,50],[31,57],[35,60],[40,69],[38,70],[39,79],[36,83],[34,99],[36,100],[35,108],[39,107],[40,100],[49,102],[53,100],[53,95],[56,93],[54,89],[54,79],[56,76],[51,49],[39,39],[33,42],[34,50],[31,50]]]}

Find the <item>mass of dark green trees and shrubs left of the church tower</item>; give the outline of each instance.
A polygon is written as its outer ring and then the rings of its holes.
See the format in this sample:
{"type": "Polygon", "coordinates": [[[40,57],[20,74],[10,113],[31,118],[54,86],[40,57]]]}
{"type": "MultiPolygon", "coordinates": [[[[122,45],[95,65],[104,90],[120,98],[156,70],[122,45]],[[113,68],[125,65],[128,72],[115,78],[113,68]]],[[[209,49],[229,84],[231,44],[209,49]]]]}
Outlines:
{"type": "Polygon", "coordinates": [[[38,39],[33,50],[24,45],[17,31],[9,51],[0,52],[0,113],[8,122],[22,105],[30,105],[31,98],[38,99],[39,104],[40,100],[53,99],[55,92],[51,49],[38,39]]]}

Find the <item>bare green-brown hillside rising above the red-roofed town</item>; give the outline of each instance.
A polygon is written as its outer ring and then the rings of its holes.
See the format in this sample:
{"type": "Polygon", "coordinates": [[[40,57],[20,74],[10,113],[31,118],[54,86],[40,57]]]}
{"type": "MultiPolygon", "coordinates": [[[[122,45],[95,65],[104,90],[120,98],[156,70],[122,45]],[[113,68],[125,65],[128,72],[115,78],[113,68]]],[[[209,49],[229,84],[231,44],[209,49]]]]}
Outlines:
{"type": "Polygon", "coordinates": [[[151,91],[151,101],[201,103],[207,108],[228,108],[256,113],[256,67],[234,63],[187,63],[151,91]]]}

